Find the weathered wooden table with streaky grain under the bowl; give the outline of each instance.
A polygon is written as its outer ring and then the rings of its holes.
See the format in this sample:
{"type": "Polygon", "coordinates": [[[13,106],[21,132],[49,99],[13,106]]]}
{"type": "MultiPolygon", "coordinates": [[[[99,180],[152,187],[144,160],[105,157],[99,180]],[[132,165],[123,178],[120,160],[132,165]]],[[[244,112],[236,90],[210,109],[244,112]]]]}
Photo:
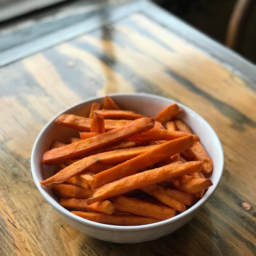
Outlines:
{"type": "Polygon", "coordinates": [[[147,2],[83,22],[1,59],[0,255],[255,255],[255,66],[147,2]],[[32,179],[31,148],[44,124],[71,104],[112,92],[187,105],[224,149],[214,195],[188,224],[155,241],[114,244],[80,233],[32,179]]]}

